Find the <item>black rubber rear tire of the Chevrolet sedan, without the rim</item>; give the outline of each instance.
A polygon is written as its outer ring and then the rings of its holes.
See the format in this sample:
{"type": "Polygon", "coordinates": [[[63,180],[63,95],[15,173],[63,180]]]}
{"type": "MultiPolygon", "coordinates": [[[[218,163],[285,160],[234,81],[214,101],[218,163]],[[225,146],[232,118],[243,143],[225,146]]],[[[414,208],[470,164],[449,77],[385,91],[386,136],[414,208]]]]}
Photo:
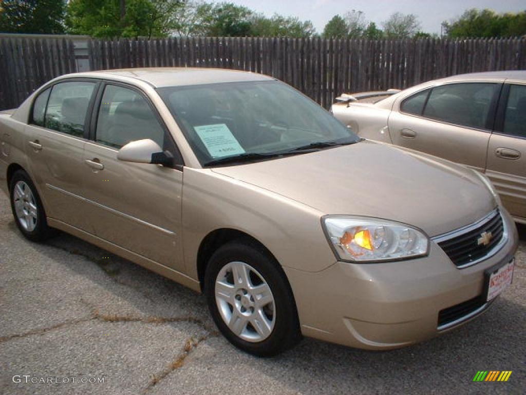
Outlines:
{"type": "Polygon", "coordinates": [[[54,234],[53,229],[49,228],[47,225],[44,206],[42,205],[42,201],[40,200],[40,196],[38,195],[35,184],[33,184],[33,181],[25,171],[17,170],[13,174],[11,183],[9,184],[9,200],[11,200],[11,211],[13,212],[16,226],[26,239],[35,242],[42,242],[54,234]],[[31,230],[24,228],[21,220],[18,219],[15,210],[15,186],[20,181],[24,182],[25,185],[29,187],[29,190],[31,190],[31,193],[33,194],[34,203],[36,205],[36,224],[34,225],[34,229],[31,230]]]}

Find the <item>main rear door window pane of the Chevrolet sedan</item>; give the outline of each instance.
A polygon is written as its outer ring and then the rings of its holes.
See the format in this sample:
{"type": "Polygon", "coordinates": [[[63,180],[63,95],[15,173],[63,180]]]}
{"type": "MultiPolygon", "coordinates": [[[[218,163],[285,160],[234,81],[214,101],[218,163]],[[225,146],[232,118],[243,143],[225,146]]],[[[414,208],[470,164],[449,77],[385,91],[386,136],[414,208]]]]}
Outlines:
{"type": "Polygon", "coordinates": [[[94,82],[72,81],[54,85],[47,104],[45,127],[82,137],[94,88],[94,82]]]}

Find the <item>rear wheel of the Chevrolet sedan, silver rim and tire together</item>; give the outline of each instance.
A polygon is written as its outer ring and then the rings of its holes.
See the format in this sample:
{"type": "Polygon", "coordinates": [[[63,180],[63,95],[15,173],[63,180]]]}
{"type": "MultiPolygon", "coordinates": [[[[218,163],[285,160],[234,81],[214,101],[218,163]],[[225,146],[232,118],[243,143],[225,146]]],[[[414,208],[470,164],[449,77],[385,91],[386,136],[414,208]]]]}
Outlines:
{"type": "Polygon", "coordinates": [[[9,185],[11,210],[22,234],[31,241],[44,241],[52,235],[35,185],[23,170],[13,174],[9,185]]]}

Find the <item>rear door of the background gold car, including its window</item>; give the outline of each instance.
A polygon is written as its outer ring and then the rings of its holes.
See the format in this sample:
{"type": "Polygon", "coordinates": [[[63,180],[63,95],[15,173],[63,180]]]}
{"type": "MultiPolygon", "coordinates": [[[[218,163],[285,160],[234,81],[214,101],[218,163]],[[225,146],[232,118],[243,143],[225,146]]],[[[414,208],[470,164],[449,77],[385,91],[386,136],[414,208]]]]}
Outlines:
{"type": "Polygon", "coordinates": [[[501,86],[454,83],[402,98],[388,120],[393,144],[483,171],[501,86]]]}

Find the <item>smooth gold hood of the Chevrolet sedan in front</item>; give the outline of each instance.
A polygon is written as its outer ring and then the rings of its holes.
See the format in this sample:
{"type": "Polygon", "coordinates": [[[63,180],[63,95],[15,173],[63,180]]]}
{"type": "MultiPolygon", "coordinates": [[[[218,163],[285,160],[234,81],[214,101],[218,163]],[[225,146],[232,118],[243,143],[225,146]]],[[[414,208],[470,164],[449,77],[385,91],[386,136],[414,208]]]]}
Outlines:
{"type": "Polygon", "coordinates": [[[472,170],[371,141],[213,171],[324,214],[399,221],[430,236],[473,223],[496,205],[472,170]]]}

